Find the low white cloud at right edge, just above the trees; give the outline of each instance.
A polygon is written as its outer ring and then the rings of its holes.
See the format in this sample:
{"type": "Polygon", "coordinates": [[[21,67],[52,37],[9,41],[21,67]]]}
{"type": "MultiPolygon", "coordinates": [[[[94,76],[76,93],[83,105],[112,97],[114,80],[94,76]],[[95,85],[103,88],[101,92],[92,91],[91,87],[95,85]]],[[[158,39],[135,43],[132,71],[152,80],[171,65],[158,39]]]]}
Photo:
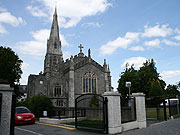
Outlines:
{"type": "Polygon", "coordinates": [[[178,77],[180,76],[180,70],[163,71],[160,76],[163,79],[178,77]]]}

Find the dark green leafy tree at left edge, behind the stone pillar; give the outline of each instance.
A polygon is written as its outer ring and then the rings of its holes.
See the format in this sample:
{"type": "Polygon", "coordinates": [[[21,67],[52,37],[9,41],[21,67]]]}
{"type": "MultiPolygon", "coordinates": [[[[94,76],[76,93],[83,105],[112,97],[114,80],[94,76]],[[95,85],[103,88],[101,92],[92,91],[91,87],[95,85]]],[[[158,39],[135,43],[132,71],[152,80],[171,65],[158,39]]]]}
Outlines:
{"type": "Polygon", "coordinates": [[[9,47],[0,46],[0,83],[10,84],[19,95],[18,85],[21,78],[22,60],[9,47]]]}

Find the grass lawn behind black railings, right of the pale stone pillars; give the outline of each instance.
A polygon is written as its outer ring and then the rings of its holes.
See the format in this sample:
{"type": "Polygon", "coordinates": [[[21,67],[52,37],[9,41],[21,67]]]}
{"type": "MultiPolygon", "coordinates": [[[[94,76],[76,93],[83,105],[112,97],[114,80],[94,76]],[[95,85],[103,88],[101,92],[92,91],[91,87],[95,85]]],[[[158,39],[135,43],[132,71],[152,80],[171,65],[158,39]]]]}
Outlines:
{"type": "MultiPolygon", "coordinates": [[[[158,110],[159,119],[164,119],[164,109],[159,108],[158,110]]],[[[166,115],[169,118],[169,109],[166,108],[166,115]]],[[[146,108],[146,118],[157,118],[157,109],[156,108],[146,108]]]]}

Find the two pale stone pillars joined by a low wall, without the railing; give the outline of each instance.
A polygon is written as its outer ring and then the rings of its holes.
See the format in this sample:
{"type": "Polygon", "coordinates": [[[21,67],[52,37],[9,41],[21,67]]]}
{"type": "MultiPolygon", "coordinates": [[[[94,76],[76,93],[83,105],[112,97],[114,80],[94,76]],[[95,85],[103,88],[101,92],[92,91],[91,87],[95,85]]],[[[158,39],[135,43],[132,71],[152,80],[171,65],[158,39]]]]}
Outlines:
{"type": "Polygon", "coordinates": [[[146,127],[145,95],[133,93],[136,103],[136,121],[121,123],[120,94],[117,92],[105,92],[108,98],[108,131],[109,134],[117,134],[123,131],[146,127]]]}

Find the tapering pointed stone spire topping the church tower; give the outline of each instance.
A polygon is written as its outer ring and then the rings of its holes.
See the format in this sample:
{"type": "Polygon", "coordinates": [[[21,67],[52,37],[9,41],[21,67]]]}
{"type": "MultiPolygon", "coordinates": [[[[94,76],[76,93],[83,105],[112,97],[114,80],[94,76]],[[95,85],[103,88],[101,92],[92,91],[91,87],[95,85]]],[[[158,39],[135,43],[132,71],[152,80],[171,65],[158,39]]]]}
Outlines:
{"type": "Polygon", "coordinates": [[[54,15],[53,15],[53,23],[51,27],[51,33],[49,39],[57,39],[59,40],[59,26],[58,26],[58,19],[57,19],[57,9],[55,7],[54,15]]]}

